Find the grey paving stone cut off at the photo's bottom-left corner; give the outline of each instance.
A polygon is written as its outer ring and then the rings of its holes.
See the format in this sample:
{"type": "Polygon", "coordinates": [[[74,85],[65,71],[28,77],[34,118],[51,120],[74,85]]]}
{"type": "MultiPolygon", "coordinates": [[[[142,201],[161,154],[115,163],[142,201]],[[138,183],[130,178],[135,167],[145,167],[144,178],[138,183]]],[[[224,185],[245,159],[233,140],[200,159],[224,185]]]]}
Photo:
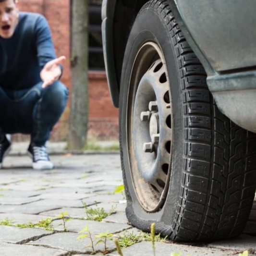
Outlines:
{"type": "Polygon", "coordinates": [[[62,250],[20,244],[0,243],[1,256],[66,256],[62,250]]]}

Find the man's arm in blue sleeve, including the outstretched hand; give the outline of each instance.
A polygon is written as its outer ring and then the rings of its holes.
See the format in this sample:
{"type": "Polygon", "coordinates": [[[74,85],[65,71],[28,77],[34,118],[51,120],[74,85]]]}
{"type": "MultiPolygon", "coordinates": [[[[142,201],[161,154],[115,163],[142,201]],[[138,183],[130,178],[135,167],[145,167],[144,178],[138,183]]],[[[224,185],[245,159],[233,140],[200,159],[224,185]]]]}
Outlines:
{"type": "Polygon", "coordinates": [[[66,58],[64,56],[56,58],[49,24],[43,16],[39,16],[36,23],[36,45],[37,58],[41,67],[42,87],[44,88],[60,79],[62,74],[60,63],[66,58]]]}

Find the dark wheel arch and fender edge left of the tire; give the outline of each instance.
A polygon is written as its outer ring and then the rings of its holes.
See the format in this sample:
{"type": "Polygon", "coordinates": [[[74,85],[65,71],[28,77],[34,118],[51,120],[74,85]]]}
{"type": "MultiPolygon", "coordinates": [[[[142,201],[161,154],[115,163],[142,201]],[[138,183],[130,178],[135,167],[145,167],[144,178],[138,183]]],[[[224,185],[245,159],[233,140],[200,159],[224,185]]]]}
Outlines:
{"type": "MultiPolygon", "coordinates": [[[[103,0],[102,33],[104,57],[112,102],[119,107],[122,61],[134,20],[149,0],[103,0]]],[[[175,8],[174,0],[169,0],[175,8]]]]}

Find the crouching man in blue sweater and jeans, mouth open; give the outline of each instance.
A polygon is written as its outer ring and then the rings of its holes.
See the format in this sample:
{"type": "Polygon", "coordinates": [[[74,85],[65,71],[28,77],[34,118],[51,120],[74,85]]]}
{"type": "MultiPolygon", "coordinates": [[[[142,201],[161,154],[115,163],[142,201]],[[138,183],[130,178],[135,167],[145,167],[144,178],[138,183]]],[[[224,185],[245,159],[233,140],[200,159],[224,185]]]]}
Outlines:
{"type": "Polygon", "coordinates": [[[0,168],[11,143],[6,134],[31,135],[36,170],[52,169],[46,142],[64,111],[68,89],[59,81],[49,25],[37,13],[19,12],[18,0],[0,0],[0,168]]]}

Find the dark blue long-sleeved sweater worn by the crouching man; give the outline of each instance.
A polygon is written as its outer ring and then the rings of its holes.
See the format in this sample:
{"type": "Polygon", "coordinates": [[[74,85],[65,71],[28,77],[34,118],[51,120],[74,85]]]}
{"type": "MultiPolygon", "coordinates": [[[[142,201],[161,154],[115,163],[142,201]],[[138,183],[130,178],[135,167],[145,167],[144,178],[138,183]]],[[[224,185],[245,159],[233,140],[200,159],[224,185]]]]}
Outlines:
{"type": "Polygon", "coordinates": [[[56,58],[46,19],[20,12],[11,38],[0,37],[0,86],[11,90],[31,88],[41,82],[40,71],[56,58]]]}

